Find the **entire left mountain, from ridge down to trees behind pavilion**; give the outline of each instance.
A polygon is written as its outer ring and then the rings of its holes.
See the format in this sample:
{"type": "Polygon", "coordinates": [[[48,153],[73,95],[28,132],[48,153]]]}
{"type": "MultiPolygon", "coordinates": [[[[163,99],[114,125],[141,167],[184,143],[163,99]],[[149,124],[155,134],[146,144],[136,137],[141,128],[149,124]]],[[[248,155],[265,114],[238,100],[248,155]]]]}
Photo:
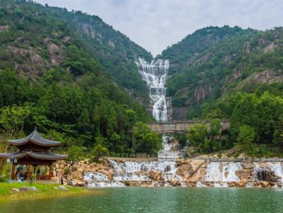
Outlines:
{"type": "Polygon", "coordinates": [[[152,121],[129,96],[147,103],[135,57],[152,56],[97,16],[0,1],[0,129],[128,153],[135,122],[152,121]],[[6,114],[20,116],[16,131],[6,114]]]}

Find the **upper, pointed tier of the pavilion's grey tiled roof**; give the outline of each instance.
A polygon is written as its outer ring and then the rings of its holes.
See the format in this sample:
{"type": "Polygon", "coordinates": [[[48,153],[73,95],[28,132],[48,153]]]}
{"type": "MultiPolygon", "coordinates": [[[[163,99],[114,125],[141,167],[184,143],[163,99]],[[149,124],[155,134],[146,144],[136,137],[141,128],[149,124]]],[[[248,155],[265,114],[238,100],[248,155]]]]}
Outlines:
{"type": "Polygon", "coordinates": [[[26,138],[16,139],[16,140],[8,140],[9,145],[13,146],[22,146],[28,142],[35,143],[39,146],[59,146],[59,141],[50,141],[48,139],[43,138],[43,136],[40,135],[38,130],[35,128],[35,130],[30,133],[26,138]]]}

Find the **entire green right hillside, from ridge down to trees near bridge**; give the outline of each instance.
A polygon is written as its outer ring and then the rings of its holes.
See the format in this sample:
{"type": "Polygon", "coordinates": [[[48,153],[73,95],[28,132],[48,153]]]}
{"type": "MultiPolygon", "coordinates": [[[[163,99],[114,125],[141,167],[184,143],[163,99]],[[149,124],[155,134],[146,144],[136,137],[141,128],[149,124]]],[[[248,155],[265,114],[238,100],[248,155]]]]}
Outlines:
{"type": "MultiPolygon", "coordinates": [[[[282,151],[283,28],[203,28],[162,57],[172,62],[167,95],[174,119],[230,119],[222,148],[246,142],[251,153],[282,151]]],[[[221,149],[202,143],[203,151],[221,149]]]]}

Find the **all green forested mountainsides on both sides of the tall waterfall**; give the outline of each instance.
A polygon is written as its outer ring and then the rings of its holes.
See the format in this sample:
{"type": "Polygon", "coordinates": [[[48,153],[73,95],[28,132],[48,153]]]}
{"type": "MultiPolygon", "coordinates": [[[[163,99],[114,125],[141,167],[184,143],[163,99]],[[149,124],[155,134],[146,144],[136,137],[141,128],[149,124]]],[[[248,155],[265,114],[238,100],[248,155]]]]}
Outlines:
{"type": "MultiPolygon", "coordinates": [[[[157,154],[162,141],[145,124],[150,99],[135,65],[150,53],[98,16],[33,1],[1,1],[0,26],[1,151],[37,126],[62,153],[157,154]]],[[[184,109],[173,119],[213,124],[175,136],[182,147],[282,154],[282,41],[282,28],[210,26],[157,56],[170,60],[173,111],[184,109]],[[223,136],[221,119],[231,121],[223,136]]]]}

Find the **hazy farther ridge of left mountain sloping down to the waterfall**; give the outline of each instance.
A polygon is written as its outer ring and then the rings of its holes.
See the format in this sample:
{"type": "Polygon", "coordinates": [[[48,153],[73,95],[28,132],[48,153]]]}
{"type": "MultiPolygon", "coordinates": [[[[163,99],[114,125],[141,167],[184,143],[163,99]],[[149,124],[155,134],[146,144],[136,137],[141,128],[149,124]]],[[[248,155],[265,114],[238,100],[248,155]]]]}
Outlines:
{"type": "Polygon", "coordinates": [[[152,55],[131,41],[126,35],[115,31],[98,16],[81,11],[68,12],[66,9],[47,6],[46,11],[67,23],[68,28],[79,35],[91,53],[101,62],[113,80],[123,86],[128,94],[148,104],[148,87],[140,78],[135,60],[152,60],[152,55]]]}

